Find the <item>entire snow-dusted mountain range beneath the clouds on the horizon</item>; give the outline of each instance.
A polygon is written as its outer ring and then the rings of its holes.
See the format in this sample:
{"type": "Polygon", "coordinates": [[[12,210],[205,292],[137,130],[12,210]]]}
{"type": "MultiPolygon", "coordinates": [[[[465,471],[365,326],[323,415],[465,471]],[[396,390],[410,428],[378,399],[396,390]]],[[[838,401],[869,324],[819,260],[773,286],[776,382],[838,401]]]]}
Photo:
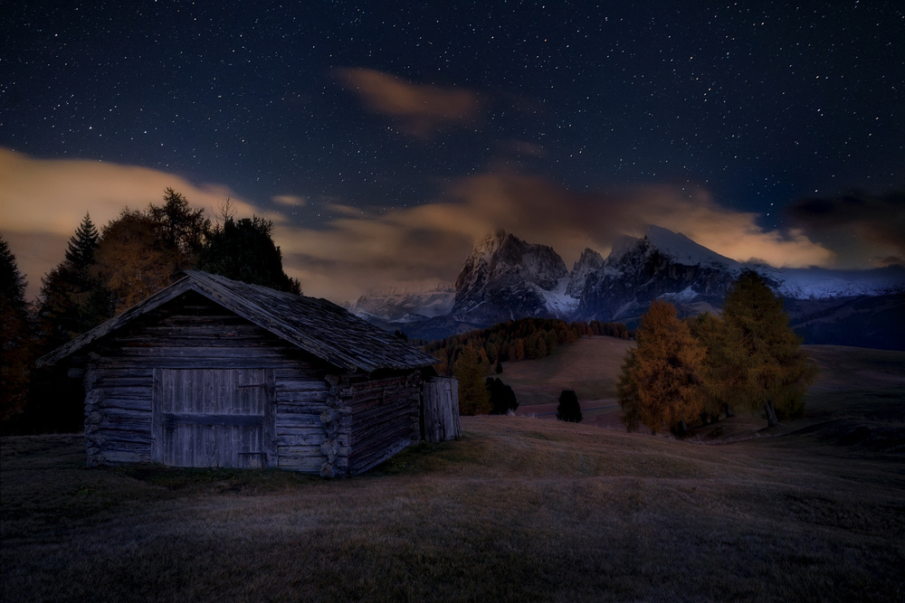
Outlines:
{"type": "Polygon", "coordinates": [[[572,269],[555,250],[505,231],[475,242],[453,285],[371,293],[350,309],[409,336],[436,339],[524,318],[621,322],[633,327],[654,299],[681,315],[719,312],[729,285],[755,270],[786,301],[805,343],[905,349],[905,267],[776,269],[740,263],[650,226],[608,257],[585,250],[572,269]]]}

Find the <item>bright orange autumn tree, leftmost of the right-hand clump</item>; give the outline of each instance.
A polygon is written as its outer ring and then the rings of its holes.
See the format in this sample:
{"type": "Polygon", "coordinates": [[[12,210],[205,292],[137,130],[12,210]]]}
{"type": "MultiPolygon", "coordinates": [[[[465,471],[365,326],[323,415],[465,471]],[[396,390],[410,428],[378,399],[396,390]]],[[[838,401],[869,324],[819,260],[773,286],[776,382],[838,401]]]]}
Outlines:
{"type": "Polygon", "coordinates": [[[617,387],[626,426],[633,430],[643,424],[652,433],[683,430],[700,415],[704,348],[679,320],[675,306],[661,300],[642,317],[635,341],[617,387]]]}

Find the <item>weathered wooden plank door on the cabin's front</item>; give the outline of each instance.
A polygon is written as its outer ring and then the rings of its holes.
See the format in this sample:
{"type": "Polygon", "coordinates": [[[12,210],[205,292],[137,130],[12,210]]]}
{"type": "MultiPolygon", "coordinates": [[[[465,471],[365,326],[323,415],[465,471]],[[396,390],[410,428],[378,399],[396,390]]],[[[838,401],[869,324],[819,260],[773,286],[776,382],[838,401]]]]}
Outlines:
{"type": "Polygon", "coordinates": [[[159,369],[151,457],[169,466],[276,464],[273,371],[159,369]]]}

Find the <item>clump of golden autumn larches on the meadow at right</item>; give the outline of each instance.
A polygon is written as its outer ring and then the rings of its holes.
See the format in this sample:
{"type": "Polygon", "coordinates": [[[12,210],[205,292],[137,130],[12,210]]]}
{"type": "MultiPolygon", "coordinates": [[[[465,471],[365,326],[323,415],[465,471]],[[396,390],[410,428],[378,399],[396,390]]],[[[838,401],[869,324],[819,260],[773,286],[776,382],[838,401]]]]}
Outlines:
{"type": "Polygon", "coordinates": [[[756,272],[729,287],[721,316],[681,320],[672,304],[654,301],[624,359],[619,404],[630,430],[681,434],[733,409],[763,410],[767,425],[800,417],[816,365],[789,327],[782,300],[756,272]]]}

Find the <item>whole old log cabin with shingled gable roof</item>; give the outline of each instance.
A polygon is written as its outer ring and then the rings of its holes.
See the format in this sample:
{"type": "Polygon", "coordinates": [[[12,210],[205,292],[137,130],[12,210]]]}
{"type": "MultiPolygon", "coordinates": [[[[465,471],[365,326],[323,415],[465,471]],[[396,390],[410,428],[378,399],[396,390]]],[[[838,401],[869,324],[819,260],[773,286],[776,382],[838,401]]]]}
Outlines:
{"type": "Polygon", "coordinates": [[[418,441],[436,361],[325,299],[189,271],[39,361],[60,362],[83,369],[90,466],[348,476],[418,441]]]}

